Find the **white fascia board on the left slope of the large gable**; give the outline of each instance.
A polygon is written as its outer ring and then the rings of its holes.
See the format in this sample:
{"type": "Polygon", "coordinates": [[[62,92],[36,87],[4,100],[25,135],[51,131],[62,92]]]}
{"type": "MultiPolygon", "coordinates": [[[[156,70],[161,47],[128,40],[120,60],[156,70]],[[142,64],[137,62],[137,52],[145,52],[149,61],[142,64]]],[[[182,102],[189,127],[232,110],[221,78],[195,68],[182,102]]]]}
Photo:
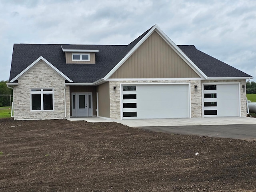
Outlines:
{"type": "Polygon", "coordinates": [[[104,80],[107,80],[118,70],[118,68],[138,49],[138,47],[154,32],[157,25],[154,25],[152,29],[120,60],[120,62],[104,77],[104,80]]]}

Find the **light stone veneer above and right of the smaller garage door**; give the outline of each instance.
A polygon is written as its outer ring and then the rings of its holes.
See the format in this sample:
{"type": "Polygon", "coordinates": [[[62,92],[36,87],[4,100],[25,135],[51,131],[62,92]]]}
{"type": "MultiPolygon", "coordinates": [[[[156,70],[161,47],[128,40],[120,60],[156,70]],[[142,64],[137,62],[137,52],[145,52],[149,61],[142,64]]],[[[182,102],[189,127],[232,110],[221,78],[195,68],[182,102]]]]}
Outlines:
{"type": "MultiPolygon", "coordinates": [[[[246,117],[246,80],[202,80],[202,83],[240,83],[241,117],[246,117]],[[242,86],[245,85],[245,92],[242,86]]],[[[202,90],[201,90],[202,91],[202,90]]]]}

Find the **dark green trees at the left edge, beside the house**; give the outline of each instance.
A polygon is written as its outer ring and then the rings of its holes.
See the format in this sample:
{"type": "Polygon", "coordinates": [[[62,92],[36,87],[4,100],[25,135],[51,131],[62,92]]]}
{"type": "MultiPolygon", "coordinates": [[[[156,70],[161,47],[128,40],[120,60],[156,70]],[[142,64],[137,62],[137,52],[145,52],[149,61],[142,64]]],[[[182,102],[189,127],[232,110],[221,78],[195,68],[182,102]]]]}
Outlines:
{"type": "Polygon", "coordinates": [[[11,101],[13,101],[12,89],[8,88],[6,83],[8,83],[8,81],[2,80],[0,82],[0,107],[10,106],[11,101]]]}

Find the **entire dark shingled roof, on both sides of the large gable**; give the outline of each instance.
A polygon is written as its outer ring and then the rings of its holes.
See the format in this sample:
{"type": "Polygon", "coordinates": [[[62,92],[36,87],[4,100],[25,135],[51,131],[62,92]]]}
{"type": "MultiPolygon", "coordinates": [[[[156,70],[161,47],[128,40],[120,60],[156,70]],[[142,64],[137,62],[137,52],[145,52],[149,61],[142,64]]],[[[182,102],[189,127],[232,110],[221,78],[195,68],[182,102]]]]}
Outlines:
{"type": "MultiPolygon", "coordinates": [[[[14,44],[10,80],[42,56],[73,82],[95,82],[104,78],[150,31],[150,29],[128,45],[14,44]],[[96,64],[66,64],[65,52],[62,51],[61,46],[64,49],[99,50],[99,52],[95,53],[96,64]]],[[[178,47],[208,77],[251,77],[250,75],[197,50],[195,46],[178,47]]]]}

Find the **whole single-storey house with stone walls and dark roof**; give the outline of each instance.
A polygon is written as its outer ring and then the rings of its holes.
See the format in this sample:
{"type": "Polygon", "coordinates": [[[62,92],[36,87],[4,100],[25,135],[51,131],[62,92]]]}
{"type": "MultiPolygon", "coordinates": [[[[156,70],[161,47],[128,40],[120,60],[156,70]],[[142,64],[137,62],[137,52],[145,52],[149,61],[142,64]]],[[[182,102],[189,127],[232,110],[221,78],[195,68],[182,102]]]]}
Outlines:
{"type": "Polygon", "coordinates": [[[246,116],[252,76],[157,26],[128,45],[14,44],[14,119],[246,116]]]}

